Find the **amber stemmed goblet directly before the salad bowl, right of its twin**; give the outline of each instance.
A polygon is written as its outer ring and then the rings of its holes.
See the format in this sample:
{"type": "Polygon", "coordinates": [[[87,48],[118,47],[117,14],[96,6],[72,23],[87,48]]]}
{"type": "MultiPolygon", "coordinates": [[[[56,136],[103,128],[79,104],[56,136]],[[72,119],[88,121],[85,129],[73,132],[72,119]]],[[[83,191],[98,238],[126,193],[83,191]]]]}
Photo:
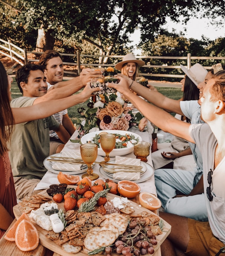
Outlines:
{"type": "Polygon", "coordinates": [[[100,144],[105,152],[105,162],[110,160],[109,154],[115,148],[115,134],[105,133],[100,135],[100,144]]]}

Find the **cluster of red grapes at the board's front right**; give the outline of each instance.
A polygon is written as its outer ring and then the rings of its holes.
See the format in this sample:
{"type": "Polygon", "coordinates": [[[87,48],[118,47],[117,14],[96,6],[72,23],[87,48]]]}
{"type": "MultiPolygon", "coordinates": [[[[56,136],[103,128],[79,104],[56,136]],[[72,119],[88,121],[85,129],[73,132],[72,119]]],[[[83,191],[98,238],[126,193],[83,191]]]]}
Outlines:
{"type": "Polygon", "coordinates": [[[133,219],[127,230],[115,241],[114,246],[105,248],[105,254],[110,256],[113,251],[124,256],[153,254],[153,245],[157,244],[156,236],[151,231],[151,226],[145,227],[142,224],[133,219]]]}

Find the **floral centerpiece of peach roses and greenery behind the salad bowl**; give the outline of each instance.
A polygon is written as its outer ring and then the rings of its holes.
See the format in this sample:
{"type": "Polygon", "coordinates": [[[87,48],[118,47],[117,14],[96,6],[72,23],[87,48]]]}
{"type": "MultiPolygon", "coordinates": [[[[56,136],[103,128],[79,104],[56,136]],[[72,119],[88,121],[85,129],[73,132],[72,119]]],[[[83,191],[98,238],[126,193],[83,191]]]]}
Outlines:
{"type": "Polygon", "coordinates": [[[136,126],[144,131],[147,119],[140,113],[133,113],[131,107],[116,94],[97,95],[97,102],[89,102],[87,108],[78,108],[79,117],[76,117],[78,139],[88,132],[101,130],[127,131],[136,126]]]}

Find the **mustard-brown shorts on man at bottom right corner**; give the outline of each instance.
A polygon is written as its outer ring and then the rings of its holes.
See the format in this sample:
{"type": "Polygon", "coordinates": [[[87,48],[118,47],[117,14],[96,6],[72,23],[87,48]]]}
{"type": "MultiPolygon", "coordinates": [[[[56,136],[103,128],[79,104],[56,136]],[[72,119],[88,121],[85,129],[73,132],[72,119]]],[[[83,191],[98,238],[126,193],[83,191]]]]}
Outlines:
{"type": "MultiPolygon", "coordinates": [[[[188,219],[190,241],[186,251],[192,256],[215,256],[225,245],[213,236],[209,222],[188,219]]],[[[224,253],[220,254],[225,255],[224,253]]]]}

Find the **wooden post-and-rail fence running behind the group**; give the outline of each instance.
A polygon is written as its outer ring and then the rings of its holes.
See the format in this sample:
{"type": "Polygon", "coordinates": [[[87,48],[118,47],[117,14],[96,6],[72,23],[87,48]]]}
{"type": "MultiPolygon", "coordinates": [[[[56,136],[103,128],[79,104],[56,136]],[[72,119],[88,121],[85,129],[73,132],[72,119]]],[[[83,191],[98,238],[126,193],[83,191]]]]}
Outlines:
{"type": "MultiPolygon", "coordinates": [[[[32,59],[31,57],[28,57],[29,54],[38,56],[41,55],[42,52],[34,52],[34,51],[27,51],[27,49],[22,49],[20,47],[17,47],[16,45],[12,44],[10,40],[5,41],[3,39],[0,39],[0,54],[5,55],[11,60],[16,61],[20,65],[27,64],[29,62],[39,62],[39,59],[32,59]],[[1,51],[3,49],[3,51],[1,51]]],[[[121,61],[124,57],[123,55],[88,55],[88,54],[80,54],[79,51],[77,51],[76,54],[66,54],[61,53],[63,56],[69,56],[76,60],[76,62],[63,62],[64,65],[70,65],[74,66],[78,70],[78,74],[81,73],[81,67],[109,67],[114,66],[118,61],[121,61]],[[95,58],[96,61],[99,60],[100,57],[108,57],[110,59],[113,59],[113,63],[111,64],[99,64],[99,63],[81,63],[82,58],[95,58]]],[[[205,56],[191,56],[190,53],[187,54],[187,56],[183,57],[168,57],[168,56],[136,56],[137,59],[159,59],[159,60],[186,60],[186,67],[189,69],[192,65],[192,60],[225,60],[225,57],[205,57],[205,56]]],[[[180,69],[180,66],[178,65],[151,65],[150,62],[147,62],[146,65],[143,66],[144,68],[163,68],[163,69],[180,69]]],[[[204,66],[206,69],[211,68],[211,66],[204,66]]],[[[64,71],[68,74],[75,74],[72,71],[64,71]]],[[[141,76],[146,77],[176,77],[176,78],[182,78],[183,75],[179,74],[159,74],[159,73],[141,73],[141,76]]]]}

